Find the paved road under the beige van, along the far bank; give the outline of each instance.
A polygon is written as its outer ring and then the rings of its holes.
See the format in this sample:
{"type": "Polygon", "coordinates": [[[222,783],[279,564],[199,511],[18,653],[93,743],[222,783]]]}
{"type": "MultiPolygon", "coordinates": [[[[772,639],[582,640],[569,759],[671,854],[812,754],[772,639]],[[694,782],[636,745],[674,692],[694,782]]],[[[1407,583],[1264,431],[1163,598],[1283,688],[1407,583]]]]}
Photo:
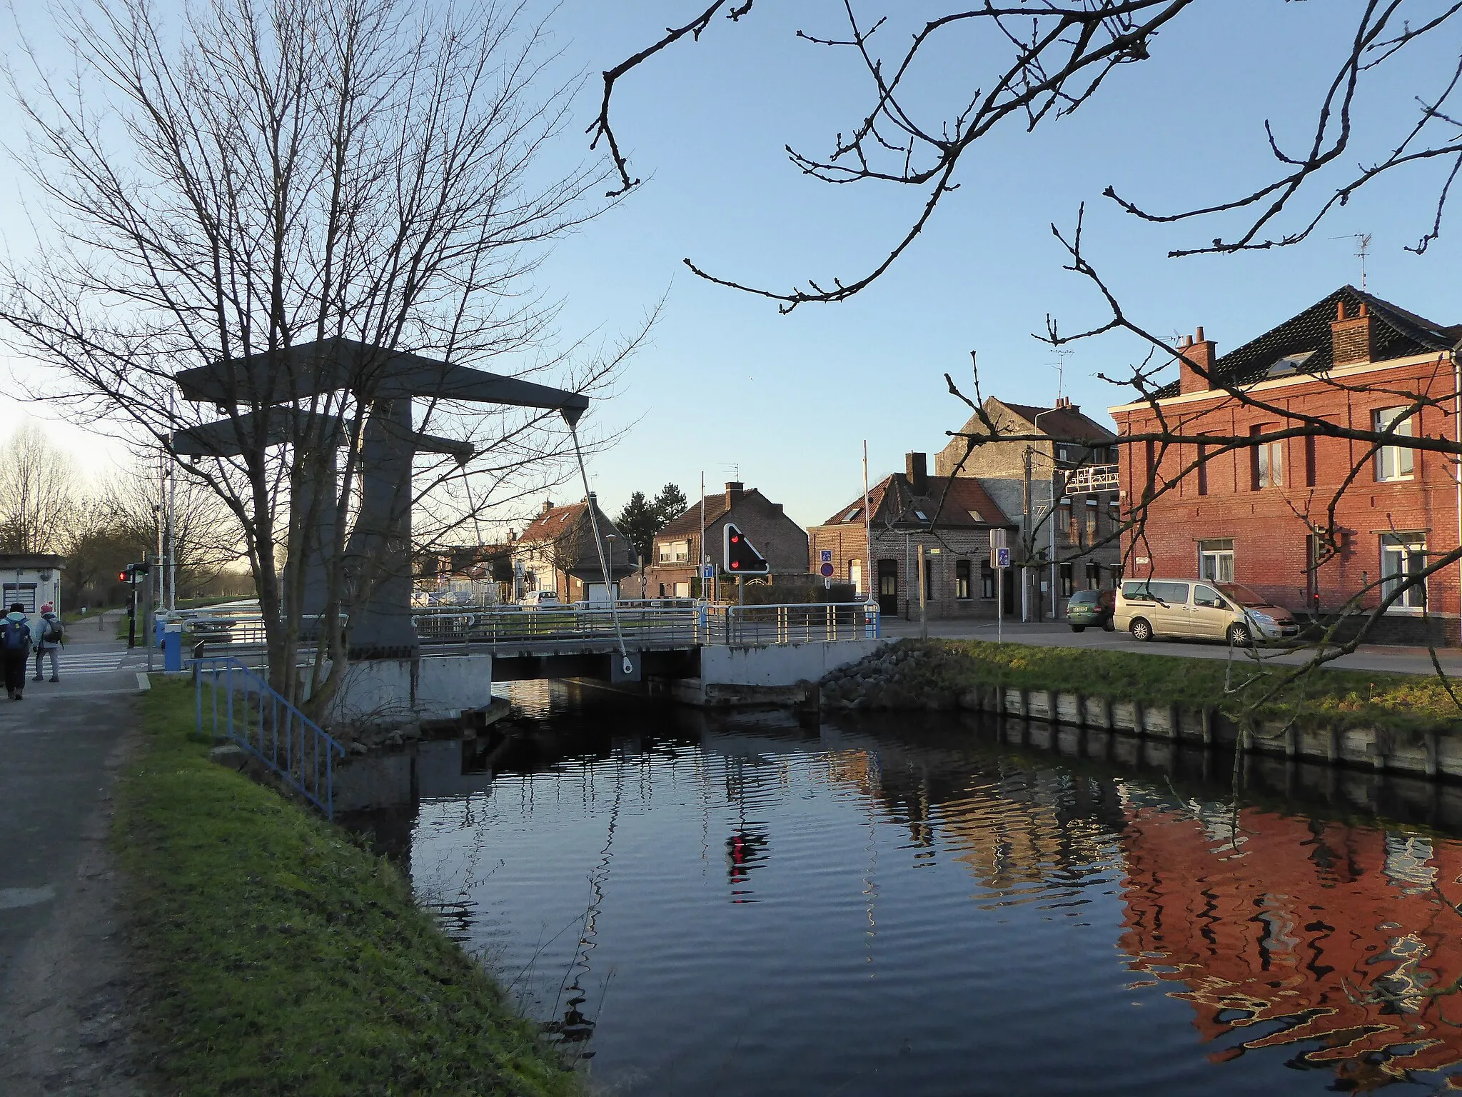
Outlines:
{"type": "MultiPolygon", "coordinates": [[[[918,622],[906,622],[898,617],[883,619],[885,636],[918,636],[918,622]]],[[[936,620],[928,623],[928,635],[946,639],[982,639],[994,641],[994,622],[971,620],[936,620]]],[[[1031,644],[1035,646],[1060,648],[1104,648],[1114,651],[1136,651],[1148,655],[1186,655],[1189,658],[1222,660],[1228,658],[1225,644],[1209,644],[1205,641],[1149,641],[1139,644],[1124,632],[1102,632],[1101,629],[1086,629],[1072,632],[1069,625],[1047,622],[1042,625],[1020,625],[1006,622],[1001,627],[1001,639],[1006,644],[1031,644]]],[[[1298,664],[1311,658],[1314,648],[1275,655],[1275,661],[1298,664]]],[[[1449,674],[1462,676],[1462,651],[1456,648],[1439,648],[1437,658],[1442,668],[1449,674]]],[[[1342,655],[1329,667],[1341,670],[1380,670],[1398,674],[1433,674],[1431,657],[1425,648],[1393,648],[1380,644],[1367,644],[1351,655],[1342,655]]]]}

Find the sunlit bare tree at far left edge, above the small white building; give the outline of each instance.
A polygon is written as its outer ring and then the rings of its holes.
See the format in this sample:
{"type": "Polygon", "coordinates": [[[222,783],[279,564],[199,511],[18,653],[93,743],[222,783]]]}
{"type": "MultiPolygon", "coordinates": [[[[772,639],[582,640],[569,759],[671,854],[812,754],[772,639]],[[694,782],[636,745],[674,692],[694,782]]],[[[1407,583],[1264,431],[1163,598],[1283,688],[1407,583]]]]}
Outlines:
{"type": "Polygon", "coordinates": [[[12,553],[61,553],[75,528],[79,486],[70,458],[37,423],[0,446],[0,541],[12,553]]]}

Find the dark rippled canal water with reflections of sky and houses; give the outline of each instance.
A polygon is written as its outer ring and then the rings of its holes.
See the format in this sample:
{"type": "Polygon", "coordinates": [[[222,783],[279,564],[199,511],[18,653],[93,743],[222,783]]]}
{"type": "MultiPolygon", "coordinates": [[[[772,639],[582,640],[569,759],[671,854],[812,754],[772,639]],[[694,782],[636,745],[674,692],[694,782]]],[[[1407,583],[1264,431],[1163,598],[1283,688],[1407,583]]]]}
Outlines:
{"type": "Polygon", "coordinates": [[[592,1093],[1462,1087],[1452,790],[1260,762],[1235,815],[1096,733],[512,699],[423,744],[402,856],[592,1093]]]}

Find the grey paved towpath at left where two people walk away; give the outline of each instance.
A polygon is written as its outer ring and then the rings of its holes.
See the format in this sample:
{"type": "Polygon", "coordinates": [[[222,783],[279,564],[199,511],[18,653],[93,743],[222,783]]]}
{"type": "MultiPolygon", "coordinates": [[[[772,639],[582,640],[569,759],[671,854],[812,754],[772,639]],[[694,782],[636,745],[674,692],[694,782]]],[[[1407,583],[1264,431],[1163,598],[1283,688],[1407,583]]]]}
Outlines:
{"type": "MultiPolygon", "coordinates": [[[[126,645],[69,630],[61,680],[0,702],[0,1091],[130,1091],[111,787],[136,727],[126,645]]],[[[32,664],[34,666],[34,664],[32,664]]]]}

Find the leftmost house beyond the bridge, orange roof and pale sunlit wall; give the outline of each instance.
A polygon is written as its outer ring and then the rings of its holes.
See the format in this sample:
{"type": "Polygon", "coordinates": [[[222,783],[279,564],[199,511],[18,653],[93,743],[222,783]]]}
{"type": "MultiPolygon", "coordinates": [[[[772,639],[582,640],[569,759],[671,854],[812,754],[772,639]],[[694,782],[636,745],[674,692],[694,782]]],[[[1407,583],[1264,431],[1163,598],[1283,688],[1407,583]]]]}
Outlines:
{"type": "Polygon", "coordinates": [[[602,601],[604,568],[594,541],[589,508],[604,538],[610,576],[618,584],[639,568],[635,546],[620,534],[595,497],[554,506],[544,500],[542,510],[512,541],[513,573],[519,595],[528,591],[557,591],[563,601],[602,601]]]}

